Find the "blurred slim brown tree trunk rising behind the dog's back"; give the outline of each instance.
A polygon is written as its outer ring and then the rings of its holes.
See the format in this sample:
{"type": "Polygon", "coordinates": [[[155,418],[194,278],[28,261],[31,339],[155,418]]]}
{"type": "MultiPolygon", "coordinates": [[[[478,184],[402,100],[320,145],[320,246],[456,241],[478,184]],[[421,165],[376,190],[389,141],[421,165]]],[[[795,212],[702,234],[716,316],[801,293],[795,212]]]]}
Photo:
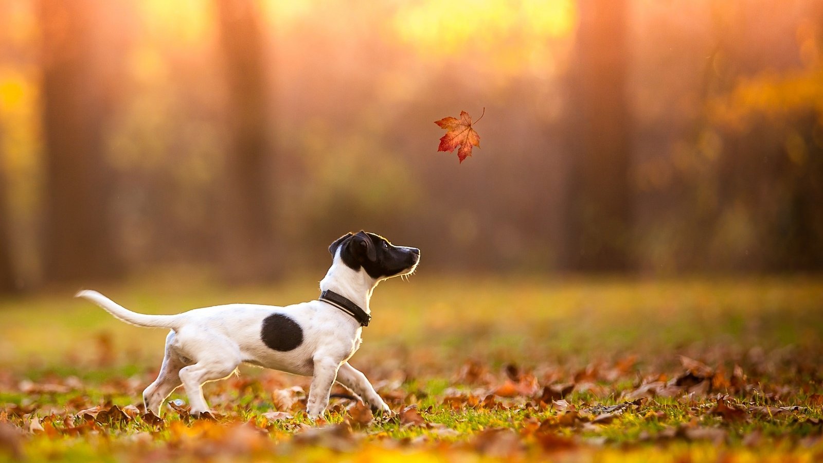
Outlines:
{"type": "Polygon", "coordinates": [[[235,281],[277,274],[271,186],[272,121],[268,115],[263,29],[257,2],[216,0],[229,87],[230,152],[223,192],[223,271],[235,281]]]}

